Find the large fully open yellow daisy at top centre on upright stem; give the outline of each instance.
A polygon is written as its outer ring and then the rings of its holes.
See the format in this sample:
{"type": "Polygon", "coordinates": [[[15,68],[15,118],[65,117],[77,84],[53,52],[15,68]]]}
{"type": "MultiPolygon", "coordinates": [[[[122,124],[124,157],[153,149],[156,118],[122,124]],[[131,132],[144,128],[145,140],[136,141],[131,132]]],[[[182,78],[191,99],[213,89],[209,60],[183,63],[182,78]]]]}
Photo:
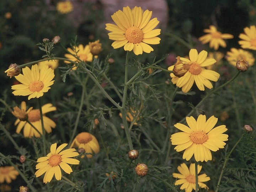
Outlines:
{"type": "Polygon", "coordinates": [[[142,11],[141,7],[135,6],[133,10],[129,6],[118,10],[111,17],[116,25],[107,23],[106,30],[111,31],[108,36],[114,40],[114,49],[124,46],[124,50],[133,50],[134,54],[150,53],[154,49],[148,44],[159,44],[160,29],[153,30],[159,23],[157,18],[150,20],[152,11],[142,11]]]}

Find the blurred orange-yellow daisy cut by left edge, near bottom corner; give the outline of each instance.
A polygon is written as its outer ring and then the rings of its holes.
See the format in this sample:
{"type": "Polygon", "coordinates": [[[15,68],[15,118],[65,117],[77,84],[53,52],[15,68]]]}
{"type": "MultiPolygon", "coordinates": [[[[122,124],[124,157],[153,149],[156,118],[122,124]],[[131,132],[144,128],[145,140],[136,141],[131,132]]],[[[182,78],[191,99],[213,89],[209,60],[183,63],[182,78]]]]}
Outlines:
{"type": "Polygon", "coordinates": [[[0,183],[6,181],[6,183],[11,183],[19,175],[18,171],[14,166],[0,167],[0,183]]]}

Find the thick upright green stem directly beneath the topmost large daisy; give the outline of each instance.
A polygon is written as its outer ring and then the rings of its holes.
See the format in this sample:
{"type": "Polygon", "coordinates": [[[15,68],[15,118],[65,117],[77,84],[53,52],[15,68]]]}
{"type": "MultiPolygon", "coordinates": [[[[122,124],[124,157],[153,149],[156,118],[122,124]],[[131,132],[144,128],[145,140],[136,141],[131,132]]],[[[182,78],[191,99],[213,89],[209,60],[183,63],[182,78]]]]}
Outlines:
{"type": "Polygon", "coordinates": [[[125,64],[125,72],[124,72],[124,91],[123,91],[123,101],[122,101],[121,113],[122,113],[124,131],[126,133],[126,138],[127,138],[127,141],[128,141],[128,145],[129,145],[130,150],[132,150],[133,149],[132,138],[131,138],[131,135],[130,135],[130,130],[129,130],[127,119],[126,119],[126,115],[127,115],[126,97],[127,97],[127,90],[128,90],[128,84],[127,84],[127,81],[128,81],[128,62],[129,62],[129,51],[127,51],[127,54],[126,54],[126,64],[125,64]]]}

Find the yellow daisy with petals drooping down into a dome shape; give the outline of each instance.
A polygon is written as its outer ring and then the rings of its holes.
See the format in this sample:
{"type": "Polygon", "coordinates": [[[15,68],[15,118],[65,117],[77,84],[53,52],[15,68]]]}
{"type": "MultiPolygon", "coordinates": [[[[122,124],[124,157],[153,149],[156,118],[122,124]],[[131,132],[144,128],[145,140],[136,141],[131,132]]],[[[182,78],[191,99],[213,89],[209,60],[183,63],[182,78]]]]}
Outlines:
{"type": "MultiPolygon", "coordinates": [[[[100,152],[100,145],[94,135],[88,132],[82,132],[76,135],[70,147],[78,147],[85,150],[85,153],[94,153],[97,154],[100,152]]],[[[84,155],[81,156],[84,158],[84,155]]],[[[92,158],[92,155],[86,155],[87,158],[92,158]]]]}

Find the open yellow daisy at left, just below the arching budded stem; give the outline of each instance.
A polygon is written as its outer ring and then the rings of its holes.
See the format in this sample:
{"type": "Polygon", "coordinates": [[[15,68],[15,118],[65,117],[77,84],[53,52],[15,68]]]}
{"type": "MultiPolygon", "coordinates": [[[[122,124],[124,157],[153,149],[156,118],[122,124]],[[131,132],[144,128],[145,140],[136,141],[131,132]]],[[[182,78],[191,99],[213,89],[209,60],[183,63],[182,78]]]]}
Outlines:
{"type": "Polygon", "coordinates": [[[11,89],[15,90],[14,95],[27,96],[28,100],[31,98],[42,97],[45,92],[48,92],[54,80],[54,70],[43,66],[39,69],[38,65],[32,65],[31,69],[27,66],[22,68],[22,74],[15,76],[21,84],[12,85],[11,89]]]}

